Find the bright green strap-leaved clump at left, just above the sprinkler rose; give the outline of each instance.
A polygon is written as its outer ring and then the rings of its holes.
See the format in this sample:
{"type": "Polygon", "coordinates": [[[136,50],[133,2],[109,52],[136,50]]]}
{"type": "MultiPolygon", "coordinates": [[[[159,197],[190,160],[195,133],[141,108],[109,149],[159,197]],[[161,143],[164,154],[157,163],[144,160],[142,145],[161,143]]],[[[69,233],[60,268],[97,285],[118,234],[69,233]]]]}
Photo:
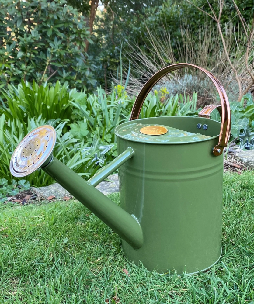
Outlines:
{"type": "Polygon", "coordinates": [[[0,112],[8,119],[19,119],[26,124],[29,118],[38,119],[40,116],[46,121],[69,119],[72,113],[69,100],[73,99],[76,89],[68,90],[68,87],[67,82],[64,85],[57,81],[55,86],[46,83],[39,86],[35,81],[30,85],[21,80],[17,88],[8,85],[8,90],[2,91],[7,104],[5,106],[2,102],[0,112]]]}

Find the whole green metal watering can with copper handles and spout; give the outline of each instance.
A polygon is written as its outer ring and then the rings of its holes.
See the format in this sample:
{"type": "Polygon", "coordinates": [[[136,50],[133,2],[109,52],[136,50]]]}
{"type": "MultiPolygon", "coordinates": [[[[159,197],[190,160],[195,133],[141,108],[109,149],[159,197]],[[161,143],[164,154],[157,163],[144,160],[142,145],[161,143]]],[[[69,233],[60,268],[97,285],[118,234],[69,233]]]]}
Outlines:
{"type": "Polygon", "coordinates": [[[85,181],[52,156],[56,132],[30,132],[12,155],[16,177],[42,168],[122,238],[128,260],[159,273],[196,273],[221,257],[223,150],[230,136],[230,107],[221,83],[201,67],[173,64],[153,75],[134,103],[130,120],[117,126],[118,157],[85,181]],[[183,67],[203,71],[217,88],[221,106],[199,117],[138,119],[146,96],[167,73],[183,67]],[[221,123],[209,119],[217,108],[221,123]],[[119,170],[120,206],[95,186],[119,170]]]}

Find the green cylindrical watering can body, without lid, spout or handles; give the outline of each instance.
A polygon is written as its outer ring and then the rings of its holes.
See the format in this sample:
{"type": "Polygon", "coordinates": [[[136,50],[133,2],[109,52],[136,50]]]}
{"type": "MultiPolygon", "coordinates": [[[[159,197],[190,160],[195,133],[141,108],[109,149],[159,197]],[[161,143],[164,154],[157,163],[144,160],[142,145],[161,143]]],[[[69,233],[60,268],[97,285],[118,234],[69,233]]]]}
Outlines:
{"type": "Polygon", "coordinates": [[[127,259],[159,273],[195,273],[221,256],[223,155],[214,156],[221,124],[199,117],[156,117],[125,123],[164,125],[209,140],[182,144],[126,140],[118,130],[118,153],[135,156],[119,168],[120,206],[138,219],[144,243],[134,249],[123,240],[127,259]]]}

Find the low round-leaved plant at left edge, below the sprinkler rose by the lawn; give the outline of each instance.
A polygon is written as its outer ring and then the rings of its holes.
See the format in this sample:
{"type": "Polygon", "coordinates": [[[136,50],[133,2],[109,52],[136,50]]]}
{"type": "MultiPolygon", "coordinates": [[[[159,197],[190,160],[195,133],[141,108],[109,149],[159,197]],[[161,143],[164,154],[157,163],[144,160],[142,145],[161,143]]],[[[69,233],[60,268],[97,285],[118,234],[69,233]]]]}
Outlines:
{"type": "Polygon", "coordinates": [[[7,196],[17,195],[19,192],[30,189],[29,181],[21,179],[16,182],[11,180],[11,184],[8,185],[8,181],[5,178],[0,179],[0,203],[7,201],[7,196]]]}

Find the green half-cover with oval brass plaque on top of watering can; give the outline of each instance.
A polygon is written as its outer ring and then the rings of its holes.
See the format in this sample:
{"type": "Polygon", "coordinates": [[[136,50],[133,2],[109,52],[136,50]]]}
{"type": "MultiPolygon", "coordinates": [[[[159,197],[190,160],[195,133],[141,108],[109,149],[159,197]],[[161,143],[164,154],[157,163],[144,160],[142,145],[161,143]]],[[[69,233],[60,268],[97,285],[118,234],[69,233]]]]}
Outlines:
{"type": "Polygon", "coordinates": [[[169,126],[132,123],[120,127],[117,136],[142,143],[190,143],[209,138],[200,133],[191,133],[169,126]]]}

